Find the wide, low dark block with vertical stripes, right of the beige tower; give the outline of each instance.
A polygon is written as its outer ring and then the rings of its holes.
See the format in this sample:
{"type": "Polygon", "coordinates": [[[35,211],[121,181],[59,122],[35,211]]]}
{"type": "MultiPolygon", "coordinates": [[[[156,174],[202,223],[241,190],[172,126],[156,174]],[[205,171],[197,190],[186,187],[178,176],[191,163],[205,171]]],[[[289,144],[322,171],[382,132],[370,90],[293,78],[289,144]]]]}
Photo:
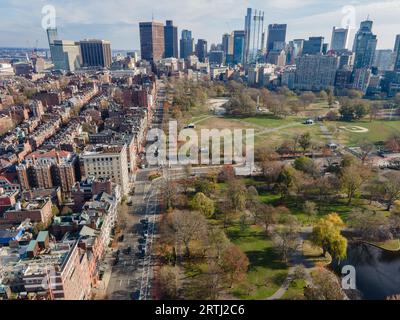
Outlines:
{"type": "Polygon", "coordinates": [[[82,63],[84,67],[111,66],[111,44],[105,40],[82,40],[80,42],[82,63]]]}

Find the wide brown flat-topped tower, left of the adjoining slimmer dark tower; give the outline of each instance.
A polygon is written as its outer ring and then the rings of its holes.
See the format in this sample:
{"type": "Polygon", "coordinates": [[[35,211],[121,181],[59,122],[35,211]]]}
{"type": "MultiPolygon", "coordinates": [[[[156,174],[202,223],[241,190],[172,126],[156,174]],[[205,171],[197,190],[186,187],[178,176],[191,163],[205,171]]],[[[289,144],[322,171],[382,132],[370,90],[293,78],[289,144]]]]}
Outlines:
{"type": "Polygon", "coordinates": [[[140,22],[140,50],[143,60],[156,62],[164,58],[164,25],[161,22],[140,22]]]}

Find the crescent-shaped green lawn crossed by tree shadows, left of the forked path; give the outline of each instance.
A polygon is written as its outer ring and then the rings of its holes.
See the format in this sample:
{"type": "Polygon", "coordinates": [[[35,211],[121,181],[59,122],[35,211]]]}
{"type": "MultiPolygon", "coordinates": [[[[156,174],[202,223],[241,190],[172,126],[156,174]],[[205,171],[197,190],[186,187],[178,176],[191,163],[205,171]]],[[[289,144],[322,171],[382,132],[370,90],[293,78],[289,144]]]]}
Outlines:
{"type": "Polygon", "coordinates": [[[281,262],[272,241],[255,226],[241,231],[235,225],[228,228],[227,235],[250,261],[247,281],[237,285],[232,294],[244,300],[263,300],[274,294],[286,279],[288,268],[281,262]]]}

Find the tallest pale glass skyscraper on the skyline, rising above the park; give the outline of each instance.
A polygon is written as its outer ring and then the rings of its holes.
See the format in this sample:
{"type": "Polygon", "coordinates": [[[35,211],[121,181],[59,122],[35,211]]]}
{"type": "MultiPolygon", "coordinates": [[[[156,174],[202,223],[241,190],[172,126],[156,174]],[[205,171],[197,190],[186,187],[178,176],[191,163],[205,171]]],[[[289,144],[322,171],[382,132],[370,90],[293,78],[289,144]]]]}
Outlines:
{"type": "Polygon", "coordinates": [[[248,8],[245,17],[245,63],[253,63],[262,56],[264,34],[264,12],[248,8]]]}

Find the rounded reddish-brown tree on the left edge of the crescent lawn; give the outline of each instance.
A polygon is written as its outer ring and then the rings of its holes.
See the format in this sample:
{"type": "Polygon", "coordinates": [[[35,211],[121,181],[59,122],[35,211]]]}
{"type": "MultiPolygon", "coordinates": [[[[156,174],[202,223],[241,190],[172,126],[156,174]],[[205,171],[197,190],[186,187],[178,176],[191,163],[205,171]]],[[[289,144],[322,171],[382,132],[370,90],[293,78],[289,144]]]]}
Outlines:
{"type": "Polygon", "coordinates": [[[230,245],[222,254],[221,267],[227,277],[229,287],[246,277],[249,259],[243,251],[235,245],[230,245]]]}

